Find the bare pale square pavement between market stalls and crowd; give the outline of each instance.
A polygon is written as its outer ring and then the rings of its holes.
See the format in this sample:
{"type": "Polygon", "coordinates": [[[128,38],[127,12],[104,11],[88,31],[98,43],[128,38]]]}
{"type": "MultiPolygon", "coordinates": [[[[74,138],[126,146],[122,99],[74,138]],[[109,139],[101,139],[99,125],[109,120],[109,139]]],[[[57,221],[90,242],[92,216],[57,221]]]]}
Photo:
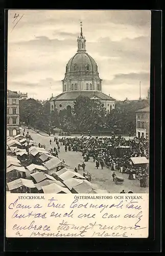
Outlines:
{"type": "MultiPolygon", "coordinates": [[[[54,148],[57,145],[54,142],[53,136],[42,136],[37,134],[33,130],[28,130],[29,134],[32,136],[36,143],[45,144],[46,150],[54,148]],[[50,145],[50,139],[52,140],[52,145],[50,145]]],[[[83,162],[81,152],[64,152],[64,146],[60,146],[59,158],[65,160],[65,163],[68,164],[71,168],[78,167],[78,164],[83,162]]],[[[133,191],[133,193],[148,193],[148,187],[140,187],[139,181],[129,180],[127,174],[120,174],[119,170],[115,170],[116,176],[122,176],[124,178],[124,183],[122,185],[116,185],[112,179],[112,171],[106,167],[96,168],[96,164],[93,163],[93,159],[90,158],[88,162],[85,162],[85,170],[88,171],[92,176],[92,185],[98,189],[104,189],[109,193],[120,193],[122,189],[127,193],[128,191],[133,191]]],[[[79,173],[82,174],[82,168],[79,170],[79,173]]]]}

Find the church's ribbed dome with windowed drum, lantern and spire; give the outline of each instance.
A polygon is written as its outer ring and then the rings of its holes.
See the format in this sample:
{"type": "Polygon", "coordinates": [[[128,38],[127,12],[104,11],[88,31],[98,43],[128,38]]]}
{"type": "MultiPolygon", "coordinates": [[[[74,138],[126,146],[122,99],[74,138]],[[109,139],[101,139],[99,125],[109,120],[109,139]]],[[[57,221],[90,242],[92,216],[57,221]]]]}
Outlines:
{"type": "Polygon", "coordinates": [[[85,42],[81,24],[80,36],[77,38],[77,53],[67,62],[65,76],[62,80],[63,92],[102,90],[102,79],[99,77],[97,63],[86,52],[85,42]]]}

